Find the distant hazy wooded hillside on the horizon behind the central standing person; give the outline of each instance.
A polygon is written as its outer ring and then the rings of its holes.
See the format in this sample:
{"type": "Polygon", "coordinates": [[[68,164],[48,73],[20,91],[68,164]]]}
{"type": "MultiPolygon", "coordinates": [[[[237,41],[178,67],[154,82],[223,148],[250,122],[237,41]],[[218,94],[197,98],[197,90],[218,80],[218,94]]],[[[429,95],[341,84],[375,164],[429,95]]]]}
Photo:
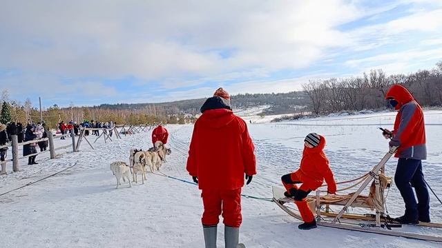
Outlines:
{"type": "MultiPolygon", "coordinates": [[[[149,110],[155,109],[161,114],[198,114],[206,99],[191,99],[167,103],[120,103],[102,104],[97,106],[106,110],[149,110]]],[[[305,92],[289,92],[278,94],[238,94],[231,96],[233,108],[247,108],[268,105],[265,114],[288,114],[296,111],[296,106],[311,103],[305,92]]]]}

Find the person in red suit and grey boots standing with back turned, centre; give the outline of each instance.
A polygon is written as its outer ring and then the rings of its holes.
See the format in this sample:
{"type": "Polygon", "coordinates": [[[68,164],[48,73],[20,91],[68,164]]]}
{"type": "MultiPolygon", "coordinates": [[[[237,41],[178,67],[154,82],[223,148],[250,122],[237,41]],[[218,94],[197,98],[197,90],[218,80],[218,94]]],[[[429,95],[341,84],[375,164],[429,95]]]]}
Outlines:
{"type": "Polygon", "coordinates": [[[237,247],[241,187],[256,174],[254,146],[242,118],[233,114],[229,94],[219,88],[201,107],[195,122],[187,171],[202,190],[202,226],[206,247],[216,247],[219,216],[224,218],[226,247],[237,247]]]}

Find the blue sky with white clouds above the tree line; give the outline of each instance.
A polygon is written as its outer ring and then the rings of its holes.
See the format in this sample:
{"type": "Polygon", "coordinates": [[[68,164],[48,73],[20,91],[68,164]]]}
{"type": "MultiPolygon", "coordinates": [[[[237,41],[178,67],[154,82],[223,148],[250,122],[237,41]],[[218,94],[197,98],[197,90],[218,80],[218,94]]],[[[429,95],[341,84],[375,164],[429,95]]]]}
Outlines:
{"type": "Polygon", "coordinates": [[[442,1],[0,1],[0,90],[38,104],[291,92],[434,68],[442,1]]]}

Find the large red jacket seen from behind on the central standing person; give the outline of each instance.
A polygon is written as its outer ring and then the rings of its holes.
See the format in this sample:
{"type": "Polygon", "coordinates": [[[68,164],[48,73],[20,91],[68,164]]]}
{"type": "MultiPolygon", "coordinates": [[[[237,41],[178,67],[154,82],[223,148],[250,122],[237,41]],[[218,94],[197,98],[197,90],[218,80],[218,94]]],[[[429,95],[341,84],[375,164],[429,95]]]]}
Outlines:
{"type": "Polygon", "coordinates": [[[238,189],[256,174],[255,147],[242,118],[231,110],[206,110],[193,127],[186,169],[200,189],[238,189]]]}

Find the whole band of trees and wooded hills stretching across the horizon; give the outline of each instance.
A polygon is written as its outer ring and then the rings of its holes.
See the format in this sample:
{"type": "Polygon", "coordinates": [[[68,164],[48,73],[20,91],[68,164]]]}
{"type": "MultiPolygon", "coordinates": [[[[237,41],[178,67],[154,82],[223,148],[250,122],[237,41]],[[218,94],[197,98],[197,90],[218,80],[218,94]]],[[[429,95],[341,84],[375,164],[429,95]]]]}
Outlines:
{"type": "MultiPolygon", "coordinates": [[[[388,107],[384,96],[394,83],[407,87],[421,105],[442,105],[442,61],[432,70],[412,74],[392,74],[371,70],[362,76],[312,80],[302,85],[303,91],[271,94],[238,94],[231,96],[234,109],[268,105],[265,114],[294,114],[311,111],[327,114],[346,110],[378,110],[388,107]]],[[[193,123],[206,99],[191,99],[169,103],[119,103],[93,107],[59,107],[57,104],[42,112],[46,125],[57,127],[60,121],[113,121],[117,124],[193,123]]],[[[11,101],[3,90],[0,99],[0,123],[9,121],[37,123],[40,112],[30,99],[24,103],[11,101]]]]}

